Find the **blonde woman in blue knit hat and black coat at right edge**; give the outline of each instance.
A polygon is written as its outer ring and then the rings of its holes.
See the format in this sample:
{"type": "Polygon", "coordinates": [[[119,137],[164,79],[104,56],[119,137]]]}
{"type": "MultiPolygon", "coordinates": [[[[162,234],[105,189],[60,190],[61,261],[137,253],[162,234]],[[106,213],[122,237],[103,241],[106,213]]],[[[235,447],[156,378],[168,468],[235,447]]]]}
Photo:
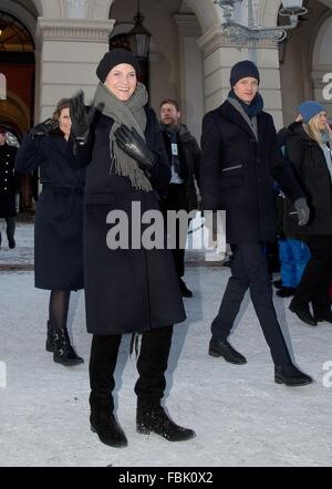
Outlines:
{"type": "Polygon", "coordinates": [[[311,259],[290,303],[290,310],[314,326],[319,321],[332,323],[329,296],[332,280],[332,133],[326,112],[318,102],[303,102],[299,112],[303,122],[293,123],[289,127],[287,154],[307,195],[311,217],[299,229],[293,219],[294,209],[287,201],[286,229],[289,233],[308,237],[311,259]]]}

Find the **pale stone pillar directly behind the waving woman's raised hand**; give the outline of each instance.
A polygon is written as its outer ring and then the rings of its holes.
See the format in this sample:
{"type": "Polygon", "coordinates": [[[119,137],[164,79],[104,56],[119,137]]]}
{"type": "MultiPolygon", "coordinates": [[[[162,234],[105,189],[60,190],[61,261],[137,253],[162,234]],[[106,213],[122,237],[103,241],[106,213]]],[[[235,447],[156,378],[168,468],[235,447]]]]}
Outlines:
{"type": "MultiPolygon", "coordinates": [[[[83,2],[80,4],[84,7],[83,2]]],[[[91,102],[98,82],[95,69],[108,51],[113,25],[114,20],[38,19],[40,69],[35,122],[49,117],[60,98],[70,97],[81,89],[85,102],[91,102]]]]}

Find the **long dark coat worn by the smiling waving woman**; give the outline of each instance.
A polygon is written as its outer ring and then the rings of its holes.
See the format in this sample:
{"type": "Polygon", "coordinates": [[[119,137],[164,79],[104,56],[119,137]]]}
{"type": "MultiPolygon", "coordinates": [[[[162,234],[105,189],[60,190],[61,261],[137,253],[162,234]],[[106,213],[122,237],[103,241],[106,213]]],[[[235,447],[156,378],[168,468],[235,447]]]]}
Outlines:
{"type": "MultiPolygon", "coordinates": [[[[148,331],[186,319],[175,264],[167,249],[110,249],[110,211],[124,211],[132,226],[132,202],[142,214],[159,209],[170,169],[155,113],[146,108],[145,137],[158,156],[154,167],[153,191],[136,190],[127,177],[114,171],[110,156],[113,119],[97,113],[91,128],[90,147],[79,148],[79,159],[89,163],[84,202],[84,279],[86,326],[93,334],[123,334],[148,331]],[[158,190],[158,191],[157,191],[158,190]]],[[[142,226],[142,232],[144,226],[142,226]]],[[[139,235],[142,235],[142,232],[139,235]]],[[[141,236],[139,236],[141,238],[141,236]]]]}

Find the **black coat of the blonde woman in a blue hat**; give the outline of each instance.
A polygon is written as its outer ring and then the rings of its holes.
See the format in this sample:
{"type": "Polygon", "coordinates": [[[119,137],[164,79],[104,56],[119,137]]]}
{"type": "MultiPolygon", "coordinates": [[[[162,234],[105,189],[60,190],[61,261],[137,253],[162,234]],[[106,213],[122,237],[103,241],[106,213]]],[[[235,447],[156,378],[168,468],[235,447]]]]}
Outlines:
{"type": "Polygon", "coordinates": [[[286,149],[310,207],[309,222],[300,228],[294,208],[287,199],[286,231],[303,236],[332,235],[331,174],[322,148],[305,133],[302,123],[293,123],[288,129],[286,149]]]}

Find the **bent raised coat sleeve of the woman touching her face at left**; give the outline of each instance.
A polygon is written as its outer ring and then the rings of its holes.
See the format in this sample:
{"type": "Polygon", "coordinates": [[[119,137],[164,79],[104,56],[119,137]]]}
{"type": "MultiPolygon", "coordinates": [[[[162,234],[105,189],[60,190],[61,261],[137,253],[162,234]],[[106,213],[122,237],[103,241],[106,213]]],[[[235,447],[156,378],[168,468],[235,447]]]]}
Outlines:
{"type": "Polygon", "coordinates": [[[42,165],[48,159],[50,153],[50,139],[49,136],[35,137],[33,139],[29,132],[25,133],[15,156],[15,170],[30,173],[42,165]]]}

